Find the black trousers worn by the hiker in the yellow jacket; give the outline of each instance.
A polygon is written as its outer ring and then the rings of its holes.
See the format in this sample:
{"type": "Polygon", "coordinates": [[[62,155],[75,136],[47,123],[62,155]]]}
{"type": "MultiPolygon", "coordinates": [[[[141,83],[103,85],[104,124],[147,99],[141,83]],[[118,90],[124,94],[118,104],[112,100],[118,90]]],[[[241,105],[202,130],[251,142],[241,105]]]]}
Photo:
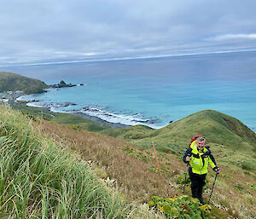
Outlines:
{"type": "Polygon", "coordinates": [[[189,178],[191,181],[191,192],[192,192],[192,197],[196,199],[201,199],[201,194],[202,194],[202,188],[206,184],[207,174],[195,174],[192,172],[191,166],[189,166],[189,178]]]}

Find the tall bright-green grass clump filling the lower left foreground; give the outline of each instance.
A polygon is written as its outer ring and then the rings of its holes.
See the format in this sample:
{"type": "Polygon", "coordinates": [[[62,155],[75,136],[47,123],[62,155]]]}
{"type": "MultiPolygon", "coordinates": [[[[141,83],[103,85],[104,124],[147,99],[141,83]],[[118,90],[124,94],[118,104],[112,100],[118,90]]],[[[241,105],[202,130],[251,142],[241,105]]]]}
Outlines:
{"type": "Polygon", "coordinates": [[[125,202],[79,162],[0,107],[0,218],[126,218],[125,202]]]}

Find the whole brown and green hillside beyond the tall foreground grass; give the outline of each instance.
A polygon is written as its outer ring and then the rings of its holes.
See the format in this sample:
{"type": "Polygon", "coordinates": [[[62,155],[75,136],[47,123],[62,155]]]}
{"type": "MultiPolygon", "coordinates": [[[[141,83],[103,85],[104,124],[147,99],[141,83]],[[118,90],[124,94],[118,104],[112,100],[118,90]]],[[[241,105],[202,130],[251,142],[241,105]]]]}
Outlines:
{"type": "MultiPolygon", "coordinates": [[[[28,115],[42,116],[38,108],[23,107],[22,110],[25,109],[30,110],[28,115]]],[[[255,134],[236,118],[220,112],[202,111],[160,130],[143,125],[112,129],[68,114],[47,113],[55,115],[55,118],[44,115],[54,123],[39,119],[34,125],[38,125],[45,135],[79,151],[82,158],[96,166],[98,176],[112,179],[131,200],[148,202],[152,195],[180,195],[185,171],[181,160],[183,149],[188,147],[192,135],[205,135],[222,171],[212,196],[212,212],[216,218],[255,215],[255,134]],[[158,150],[162,177],[158,176],[151,141],[158,150]]],[[[205,199],[213,179],[210,170],[205,199]]],[[[185,193],[190,193],[189,187],[185,193]]]]}

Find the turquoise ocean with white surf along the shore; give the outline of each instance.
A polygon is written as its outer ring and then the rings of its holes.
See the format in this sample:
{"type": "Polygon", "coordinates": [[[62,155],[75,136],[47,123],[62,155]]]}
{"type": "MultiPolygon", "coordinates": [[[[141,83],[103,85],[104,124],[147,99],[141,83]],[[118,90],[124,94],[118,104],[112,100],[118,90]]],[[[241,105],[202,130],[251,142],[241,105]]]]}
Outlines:
{"type": "Polygon", "coordinates": [[[256,129],[256,52],[0,67],[46,84],[84,84],[22,96],[30,106],[159,129],[216,110],[256,129]],[[33,101],[34,100],[34,101],[33,101]]]}

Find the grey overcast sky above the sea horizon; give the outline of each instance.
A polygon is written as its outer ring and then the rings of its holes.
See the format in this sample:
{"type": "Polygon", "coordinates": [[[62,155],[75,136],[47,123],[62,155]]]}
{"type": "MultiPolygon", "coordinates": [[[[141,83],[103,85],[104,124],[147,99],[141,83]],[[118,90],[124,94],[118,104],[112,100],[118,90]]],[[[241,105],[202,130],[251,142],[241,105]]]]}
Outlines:
{"type": "Polygon", "coordinates": [[[0,66],[256,50],[256,0],[0,0],[0,66]]]}

